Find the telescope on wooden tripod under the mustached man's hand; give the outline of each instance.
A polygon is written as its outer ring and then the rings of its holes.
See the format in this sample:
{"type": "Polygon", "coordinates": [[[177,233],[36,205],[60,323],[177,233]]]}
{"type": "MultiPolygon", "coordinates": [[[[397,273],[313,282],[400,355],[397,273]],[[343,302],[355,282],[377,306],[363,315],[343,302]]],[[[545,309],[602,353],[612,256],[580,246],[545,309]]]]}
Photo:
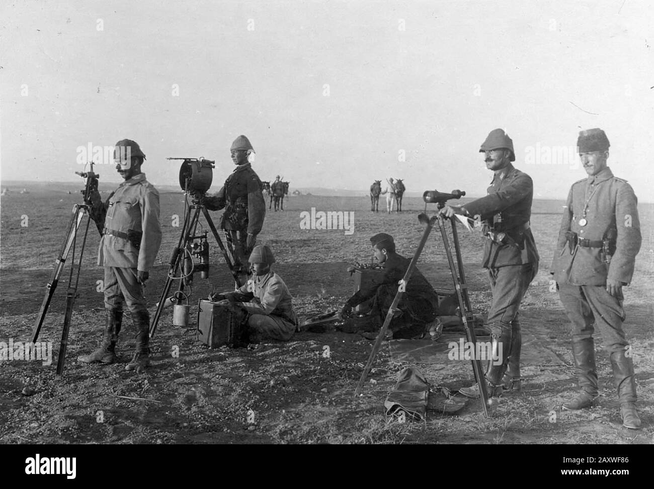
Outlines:
{"type": "MultiPolygon", "coordinates": [[[[427,210],[428,203],[436,203],[436,207],[440,211],[440,209],[443,209],[443,207],[445,207],[446,201],[450,199],[460,199],[464,195],[466,195],[466,192],[461,192],[460,190],[453,190],[451,194],[438,192],[438,190],[427,190],[426,192],[424,192],[424,194],[422,194],[422,199],[424,200],[425,203],[424,209],[425,211],[427,210]]],[[[445,254],[447,254],[447,261],[449,263],[452,280],[455,286],[456,298],[458,299],[458,307],[461,313],[461,320],[463,322],[464,328],[466,329],[466,336],[468,337],[468,341],[470,342],[470,344],[477,345],[477,336],[475,335],[475,328],[474,328],[474,318],[472,313],[472,307],[470,305],[470,297],[468,296],[468,284],[466,284],[466,277],[463,270],[463,260],[461,258],[461,247],[458,242],[458,233],[456,231],[455,218],[452,217],[448,219],[445,216],[443,216],[443,214],[440,214],[439,212],[434,216],[429,217],[427,216],[426,212],[421,212],[418,215],[418,220],[422,224],[426,224],[426,228],[424,229],[424,233],[422,233],[421,241],[418,244],[417,250],[415,250],[415,254],[411,259],[411,263],[409,263],[409,268],[404,274],[404,278],[402,279],[402,282],[404,282],[404,284],[407,284],[409,282],[409,278],[411,278],[411,275],[415,270],[417,261],[420,258],[422,249],[424,248],[424,245],[427,242],[429,234],[434,228],[434,224],[438,222],[438,226],[441,230],[441,237],[443,239],[443,247],[445,248],[445,254]],[[452,256],[452,250],[450,248],[449,240],[447,238],[447,226],[445,224],[446,220],[449,220],[452,226],[452,241],[454,243],[454,248],[455,248],[456,265],[452,256]]],[[[405,292],[401,292],[401,290],[402,288],[398,288],[398,292],[395,294],[395,298],[393,299],[393,302],[390,305],[390,308],[388,309],[386,318],[384,320],[384,324],[379,330],[379,335],[377,335],[377,339],[375,340],[375,345],[373,345],[372,352],[370,354],[370,357],[368,358],[368,363],[366,363],[366,366],[364,367],[364,371],[362,372],[359,382],[356,385],[356,390],[354,390],[354,396],[358,396],[361,393],[361,390],[364,386],[364,382],[366,382],[366,378],[370,373],[372,364],[375,361],[377,353],[379,352],[379,348],[381,347],[381,342],[383,341],[386,335],[386,331],[390,324],[390,320],[393,317],[393,311],[398,306],[398,303],[400,303],[400,299],[402,299],[402,294],[405,294],[405,292]]],[[[481,401],[483,404],[484,414],[485,416],[488,416],[489,415],[488,389],[485,382],[484,373],[481,369],[481,360],[479,358],[473,358],[472,370],[475,374],[475,381],[479,385],[479,393],[481,394],[481,401]]]]}

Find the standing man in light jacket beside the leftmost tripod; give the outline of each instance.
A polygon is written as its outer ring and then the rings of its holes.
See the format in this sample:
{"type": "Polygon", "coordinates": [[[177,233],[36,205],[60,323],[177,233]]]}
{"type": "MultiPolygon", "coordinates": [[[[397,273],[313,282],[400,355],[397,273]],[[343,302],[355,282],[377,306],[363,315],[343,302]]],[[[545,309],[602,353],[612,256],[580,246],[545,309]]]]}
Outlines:
{"type": "Polygon", "coordinates": [[[91,195],[91,217],[102,238],[97,264],[105,267],[105,308],[107,326],[100,348],[80,356],[84,363],[116,362],[116,342],[122,326],[125,301],[136,327],[136,350],[126,370],[137,370],[150,363],[148,328],[150,315],[143,296],[143,285],[162,241],[159,224],[159,192],[145,179],[141,165],[145,154],[130,139],[118,141],[114,148],[116,170],[125,180],[105,203],[95,190],[91,195]]]}

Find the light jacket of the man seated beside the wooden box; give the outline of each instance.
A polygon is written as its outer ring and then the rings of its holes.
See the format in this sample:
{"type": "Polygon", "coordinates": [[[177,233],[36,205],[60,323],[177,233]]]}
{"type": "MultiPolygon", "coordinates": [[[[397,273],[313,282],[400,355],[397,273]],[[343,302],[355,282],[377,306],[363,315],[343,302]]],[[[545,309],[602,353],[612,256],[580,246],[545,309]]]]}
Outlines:
{"type": "Polygon", "coordinates": [[[235,293],[242,307],[250,314],[279,316],[292,324],[298,324],[293,311],[293,297],[288,287],[277,273],[269,271],[266,275],[250,275],[245,285],[235,293]]]}

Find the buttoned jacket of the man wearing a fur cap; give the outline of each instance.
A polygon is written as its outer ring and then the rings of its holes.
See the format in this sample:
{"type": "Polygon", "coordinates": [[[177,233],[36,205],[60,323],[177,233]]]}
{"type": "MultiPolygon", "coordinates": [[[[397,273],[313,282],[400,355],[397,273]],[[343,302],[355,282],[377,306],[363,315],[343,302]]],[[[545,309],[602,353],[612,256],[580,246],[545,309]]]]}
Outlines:
{"type": "Polygon", "coordinates": [[[572,184],[550,270],[554,279],[572,285],[603,286],[607,278],[629,284],[641,243],[637,204],[631,186],[626,180],[613,177],[609,167],[572,184]],[[587,220],[586,226],[579,226],[581,218],[587,220]],[[617,238],[610,265],[601,260],[600,247],[575,246],[570,252],[566,231],[577,233],[579,238],[601,241],[611,228],[617,230],[617,238]]]}

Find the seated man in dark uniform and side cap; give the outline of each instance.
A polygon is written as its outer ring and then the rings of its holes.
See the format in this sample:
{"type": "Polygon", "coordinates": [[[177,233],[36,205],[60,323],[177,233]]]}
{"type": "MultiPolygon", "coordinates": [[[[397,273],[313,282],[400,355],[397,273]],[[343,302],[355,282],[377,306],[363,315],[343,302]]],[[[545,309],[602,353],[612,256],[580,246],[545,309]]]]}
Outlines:
{"type": "MultiPolygon", "coordinates": [[[[370,316],[375,319],[375,327],[379,329],[386,318],[388,308],[398,292],[400,280],[409,268],[411,260],[395,252],[393,237],[379,233],[370,238],[375,259],[384,267],[383,278],[370,286],[364,287],[345,303],[341,311],[348,318],[352,308],[373,298],[370,316]]],[[[418,269],[413,271],[406,290],[398,303],[398,307],[390,321],[389,329],[393,338],[413,338],[424,332],[426,324],[438,316],[438,296],[418,269]]],[[[344,331],[351,332],[351,320],[345,323],[344,331]]],[[[390,336],[390,334],[389,334],[390,336]]]]}

